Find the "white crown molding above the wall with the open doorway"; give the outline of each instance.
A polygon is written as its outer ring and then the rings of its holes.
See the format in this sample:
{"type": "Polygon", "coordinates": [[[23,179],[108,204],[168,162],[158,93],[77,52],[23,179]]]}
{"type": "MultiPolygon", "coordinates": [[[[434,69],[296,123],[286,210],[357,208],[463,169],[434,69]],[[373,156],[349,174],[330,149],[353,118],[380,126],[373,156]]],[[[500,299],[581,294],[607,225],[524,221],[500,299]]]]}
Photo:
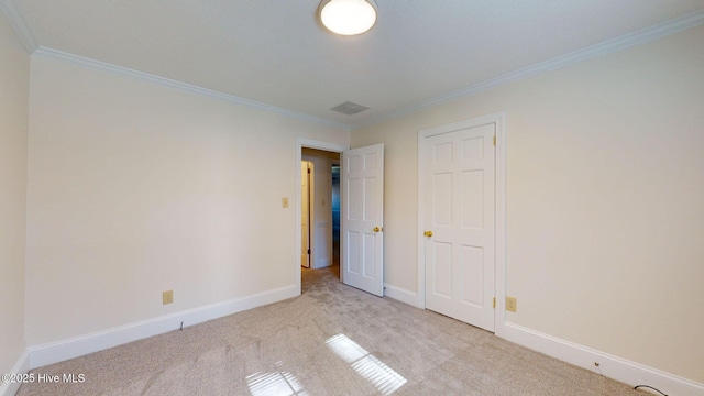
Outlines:
{"type": "MultiPolygon", "coordinates": [[[[2,0],[0,0],[0,1],[2,1],[2,0]]],[[[131,69],[131,68],[112,65],[112,64],[109,64],[109,63],[106,63],[106,62],[96,61],[96,59],[87,58],[87,57],[84,57],[84,56],[69,54],[69,53],[66,53],[66,52],[63,52],[63,51],[58,51],[58,50],[53,50],[53,48],[47,48],[47,47],[44,47],[44,46],[38,46],[36,48],[36,51],[34,51],[34,53],[32,55],[33,56],[43,57],[43,58],[47,58],[47,59],[53,59],[53,61],[59,61],[59,62],[64,62],[64,63],[77,65],[77,66],[80,66],[80,67],[95,69],[95,70],[108,72],[108,73],[118,74],[118,75],[122,75],[122,76],[127,76],[127,77],[131,77],[131,78],[135,78],[135,79],[141,79],[141,80],[144,80],[144,81],[147,81],[147,82],[152,82],[152,84],[160,85],[160,86],[163,86],[163,87],[176,89],[176,90],[179,90],[179,91],[183,91],[183,92],[196,94],[196,95],[200,95],[200,96],[205,96],[205,97],[209,97],[209,98],[227,101],[227,102],[239,105],[239,106],[244,106],[244,107],[249,107],[249,108],[253,108],[253,109],[270,111],[270,112],[278,113],[278,114],[282,114],[282,116],[295,118],[295,119],[298,119],[298,120],[301,120],[301,121],[315,123],[315,124],[333,127],[333,128],[343,129],[345,131],[350,131],[350,125],[343,124],[343,123],[340,123],[340,122],[334,122],[334,121],[321,119],[321,118],[318,118],[318,117],[304,114],[304,113],[300,113],[300,112],[297,112],[297,111],[287,110],[287,109],[284,109],[284,108],[279,108],[279,107],[262,103],[262,102],[258,102],[258,101],[255,101],[255,100],[241,98],[241,97],[238,97],[238,96],[234,96],[234,95],[230,95],[230,94],[226,94],[226,92],[221,92],[221,91],[218,91],[218,90],[215,90],[215,89],[202,88],[202,87],[195,86],[195,85],[191,85],[191,84],[182,82],[182,81],[173,80],[173,79],[169,79],[169,78],[152,75],[152,74],[148,74],[148,73],[139,72],[139,70],[131,69]]]]}

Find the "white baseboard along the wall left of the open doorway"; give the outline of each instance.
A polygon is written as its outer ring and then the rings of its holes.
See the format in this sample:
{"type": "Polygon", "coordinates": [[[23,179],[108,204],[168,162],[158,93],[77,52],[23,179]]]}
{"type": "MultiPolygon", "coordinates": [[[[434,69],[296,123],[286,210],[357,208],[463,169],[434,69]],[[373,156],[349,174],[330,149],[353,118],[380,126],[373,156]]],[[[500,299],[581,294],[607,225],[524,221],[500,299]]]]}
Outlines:
{"type": "Polygon", "coordinates": [[[297,296],[298,290],[292,285],[90,334],[30,346],[28,349],[30,355],[29,366],[30,369],[36,369],[63,362],[128,342],[178,330],[182,327],[182,322],[185,328],[297,296]]]}

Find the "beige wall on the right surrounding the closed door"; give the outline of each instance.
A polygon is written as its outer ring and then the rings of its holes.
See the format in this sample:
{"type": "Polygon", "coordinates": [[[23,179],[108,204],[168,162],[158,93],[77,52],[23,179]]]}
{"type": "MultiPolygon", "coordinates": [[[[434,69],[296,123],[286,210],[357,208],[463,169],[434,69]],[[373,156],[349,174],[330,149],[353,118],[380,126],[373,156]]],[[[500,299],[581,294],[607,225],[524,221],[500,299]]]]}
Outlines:
{"type": "Polygon", "coordinates": [[[352,132],[417,290],[417,132],[505,111],[507,321],[704,383],[704,26],[352,132]]]}

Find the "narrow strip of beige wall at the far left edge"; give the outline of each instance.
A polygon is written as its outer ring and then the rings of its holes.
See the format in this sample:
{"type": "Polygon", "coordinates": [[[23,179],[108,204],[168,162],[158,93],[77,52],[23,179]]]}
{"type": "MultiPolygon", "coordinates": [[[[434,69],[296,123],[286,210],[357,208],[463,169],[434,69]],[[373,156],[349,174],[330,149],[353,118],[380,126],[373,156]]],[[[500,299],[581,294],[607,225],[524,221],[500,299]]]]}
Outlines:
{"type": "Polygon", "coordinates": [[[0,59],[0,373],[9,373],[25,349],[24,237],[30,55],[2,12],[0,59]]]}

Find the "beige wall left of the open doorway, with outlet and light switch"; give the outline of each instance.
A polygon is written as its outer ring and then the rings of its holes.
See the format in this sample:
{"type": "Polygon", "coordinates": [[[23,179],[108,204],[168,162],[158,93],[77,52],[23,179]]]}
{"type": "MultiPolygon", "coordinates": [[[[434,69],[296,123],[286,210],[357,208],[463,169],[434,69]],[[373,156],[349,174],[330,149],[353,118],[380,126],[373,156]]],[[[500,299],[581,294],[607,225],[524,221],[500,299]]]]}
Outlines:
{"type": "Polygon", "coordinates": [[[32,58],[26,340],[296,283],[297,136],[349,132],[32,58]],[[175,302],[162,305],[162,292],[175,302]]]}

